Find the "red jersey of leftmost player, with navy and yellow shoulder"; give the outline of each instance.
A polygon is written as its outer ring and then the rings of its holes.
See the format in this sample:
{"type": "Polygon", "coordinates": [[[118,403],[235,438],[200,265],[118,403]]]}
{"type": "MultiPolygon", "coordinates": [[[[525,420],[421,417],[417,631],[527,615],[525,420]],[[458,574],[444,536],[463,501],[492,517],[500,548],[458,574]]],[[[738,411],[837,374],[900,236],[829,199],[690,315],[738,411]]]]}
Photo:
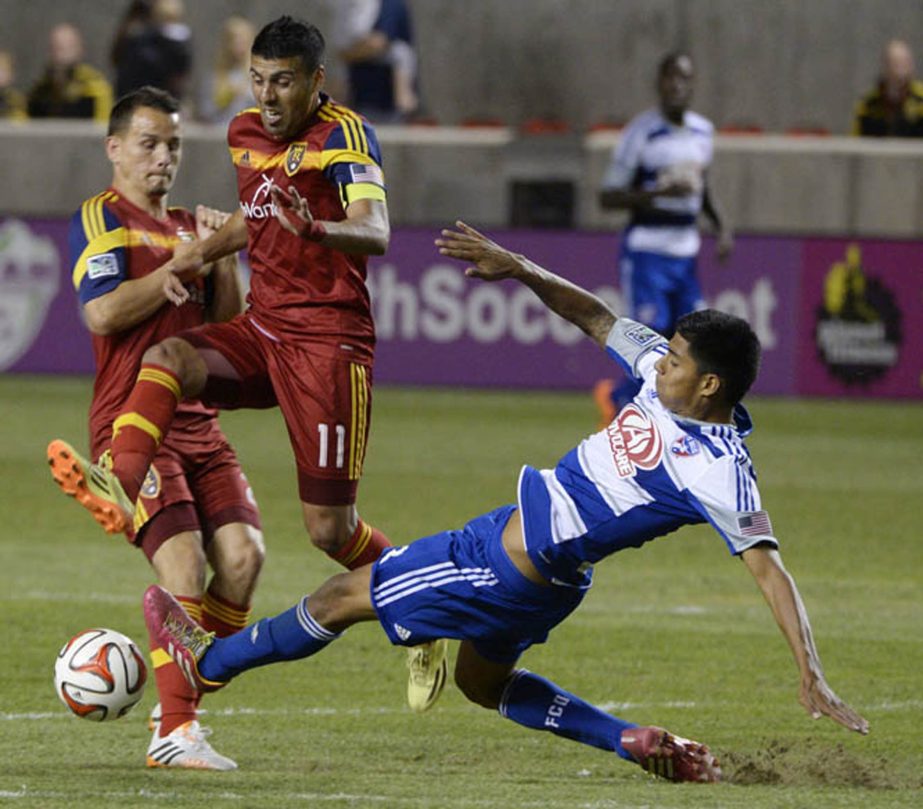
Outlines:
{"type": "MultiPolygon", "coordinates": [[[[171,208],[161,221],[111,188],[91,197],[74,214],[69,234],[73,282],[80,303],[153,272],[172,256],[174,245],[195,239],[195,232],[195,217],[181,208],[171,208]]],[[[200,278],[187,284],[187,289],[189,300],[182,306],[165,303],[125,331],[93,335],[96,382],[90,406],[90,450],[94,458],[109,445],[112,422],[131,392],[145,350],[204,322],[210,283],[200,278]]],[[[182,402],[171,434],[217,431],[215,415],[215,410],[200,402],[182,402]]]]}

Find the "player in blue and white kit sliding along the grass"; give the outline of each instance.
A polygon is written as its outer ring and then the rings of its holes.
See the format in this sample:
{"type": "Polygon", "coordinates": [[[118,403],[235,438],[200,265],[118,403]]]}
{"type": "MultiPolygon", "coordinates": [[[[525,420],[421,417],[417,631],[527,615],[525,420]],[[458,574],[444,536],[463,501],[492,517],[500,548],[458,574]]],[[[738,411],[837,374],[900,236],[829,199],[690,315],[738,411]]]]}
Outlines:
{"type": "Polygon", "coordinates": [[[473,263],[468,275],[526,284],[639,375],[640,395],[554,470],[523,467],[518,506],[392,548],[230,638],[214,639],[153,586],[145,594],[151,633],[204,691],[247,669],[315,654],[360,621],[377,618],[395,644],[458,638],[455,680],[473,702],[675,781],[717,781],[720,767],[704,745],[638,727],[515,667],[579,605],[594,562],[707,521],[765,595],[795,657],[805,709],[867,733],[868,723],[827,685],[804,604],[761,507],[743,444],[752,425],[740,398],[759,365],[759,342],[747,323],[695,312],[667,343],[636,321],[617,319],[594,295],[459,228],[437,241],[443,255],[473,263]]]}

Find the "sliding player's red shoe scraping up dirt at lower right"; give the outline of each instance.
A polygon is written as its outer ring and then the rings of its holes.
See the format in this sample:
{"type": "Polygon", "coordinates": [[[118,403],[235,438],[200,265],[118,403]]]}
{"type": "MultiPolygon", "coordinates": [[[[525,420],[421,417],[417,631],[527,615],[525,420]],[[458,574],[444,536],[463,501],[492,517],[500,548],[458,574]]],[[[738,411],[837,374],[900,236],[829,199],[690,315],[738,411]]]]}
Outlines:
{"type": "Polygon", "coordinates": [[[716,783],[721,766],[704,744],[657,727],[622,731],[621,745],[651,775],[670,781],[716,783]]]}

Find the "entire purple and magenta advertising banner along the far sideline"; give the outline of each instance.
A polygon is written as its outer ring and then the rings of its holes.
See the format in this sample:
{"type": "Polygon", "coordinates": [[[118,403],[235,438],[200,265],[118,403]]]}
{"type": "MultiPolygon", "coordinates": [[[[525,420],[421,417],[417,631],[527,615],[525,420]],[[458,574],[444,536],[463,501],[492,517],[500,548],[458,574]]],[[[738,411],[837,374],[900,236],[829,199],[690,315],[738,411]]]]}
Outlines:
{"type": "MultiPolygon", "coordinates": [[[[91,373],[90,338],[70,281],[67,222],[0,220],[0,370],[91,373]]],[[[494,231],[505,246],[625,313],[618,237],[494,231]]],[[[468,279],[401,229],[370,264],[379,383],[582,388],[617,373],[580,331],[514,282],[468,279]]],[[[923,268],[915,242],[742,237],[726,264],[705,241],[709,305],[747,319],[763,344],[754,392],[919,397],[923,268]]]]}

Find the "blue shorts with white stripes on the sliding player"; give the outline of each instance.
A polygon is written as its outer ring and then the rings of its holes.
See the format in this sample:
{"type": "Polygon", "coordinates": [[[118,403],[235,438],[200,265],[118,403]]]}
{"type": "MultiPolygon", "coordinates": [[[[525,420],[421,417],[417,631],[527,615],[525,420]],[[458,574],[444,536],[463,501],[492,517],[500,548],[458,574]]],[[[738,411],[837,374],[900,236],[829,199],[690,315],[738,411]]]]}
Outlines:
{"type": "Polygon", "coordinates": [[[460,531],[443,531],[386,551],[372,568],[372,605],[391,642],[436,638],[474,644],[495,663],[513,663],[571,614],[584,591],[535,584],[503,550],[516,506],[502,506],[460,531]]]}

